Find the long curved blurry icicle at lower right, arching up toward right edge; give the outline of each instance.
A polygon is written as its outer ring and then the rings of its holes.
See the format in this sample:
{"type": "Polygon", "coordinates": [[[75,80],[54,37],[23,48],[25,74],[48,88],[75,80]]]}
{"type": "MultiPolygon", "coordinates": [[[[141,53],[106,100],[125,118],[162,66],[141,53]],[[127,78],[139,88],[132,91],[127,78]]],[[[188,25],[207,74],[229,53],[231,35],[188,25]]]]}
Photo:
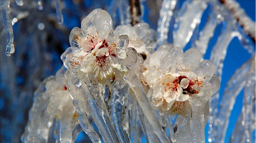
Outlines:
{"type": "MultiPolygon", "coordinates": [[[[230,113],[235,104],[235,99],[240,91],[243,89],[245,85],[245,76],[250,70],[252,61],[255,60],[252,58],[251,60],[244,63],[242,67],[236,70],[235,74],[232,75],[231,79],[228,81],[227,86],[225,87],[225,92],[220,101],[220,109],[218,118],[214,125],[218,125],[215,132],[213,132],[213,136],[215,140],[214,142],[224,142],[224,138],[227,131],[227,126],[229,123],[230,113]]],[[[214,117],[213,117],[214,118],[214,117]]]]}

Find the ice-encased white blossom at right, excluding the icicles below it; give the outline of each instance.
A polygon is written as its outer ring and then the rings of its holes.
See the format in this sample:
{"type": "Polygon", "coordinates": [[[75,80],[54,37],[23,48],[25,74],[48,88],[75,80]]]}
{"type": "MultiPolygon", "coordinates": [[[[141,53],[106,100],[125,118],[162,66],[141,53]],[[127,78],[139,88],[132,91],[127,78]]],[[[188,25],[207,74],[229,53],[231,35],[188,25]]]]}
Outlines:
{"type": "Polygon", "coordinates": [[[191,113],[191,98],[210,99],[213,93],[209,91],[219,88],[219,78],[213,77],[214,64],[209,60],[200,62],[200,59],[198,49],[183,53],[181,48],[171,45],[161,46],[146,59],[143,76],[153,88],[150,98],[155,107],[171,115],[186,116],[191,113]],[[170,53],[164,54],[164,51],[170,53]]]}

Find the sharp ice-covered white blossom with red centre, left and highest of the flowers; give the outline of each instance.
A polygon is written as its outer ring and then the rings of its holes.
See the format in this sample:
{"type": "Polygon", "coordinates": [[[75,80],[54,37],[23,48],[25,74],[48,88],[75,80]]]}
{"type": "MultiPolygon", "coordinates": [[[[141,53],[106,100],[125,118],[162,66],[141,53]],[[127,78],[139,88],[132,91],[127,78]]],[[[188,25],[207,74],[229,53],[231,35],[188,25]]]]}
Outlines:
{"type": "Polygon", "coordinates": [[[95,9],[82,20],[81,28],[70,32],[70,45],[63,54],[66,68],[93,86],[109,84],[123,78],[127,68],[120,64],[126,58],[128,36],[112,34],[112,19],[107,11],[95,9]]]}

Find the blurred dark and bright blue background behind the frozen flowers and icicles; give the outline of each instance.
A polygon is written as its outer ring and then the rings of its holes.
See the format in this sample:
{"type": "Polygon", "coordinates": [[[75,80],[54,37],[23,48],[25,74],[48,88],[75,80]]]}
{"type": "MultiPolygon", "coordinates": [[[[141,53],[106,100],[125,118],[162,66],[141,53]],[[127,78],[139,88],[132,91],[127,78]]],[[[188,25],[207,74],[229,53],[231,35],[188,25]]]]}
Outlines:
{"type": "MultiPolygon", "coordinates": [[[[61,68],[61,54],[70,46],[69,34],[73,27],[80,27],[83,18],[92,10],[102,8],[108,11],[113,19],[113,28],[123,24],[120,14],[127,9],[120,9],[118,3],[128,6],[128,1],[111,0],[61,0],[63,24],[58,24],[54,2],[29,0],[23,1],[18,6],[11,1],[10,10],[14,33],[15,53],[7,57],[5,55],[6,34],[3,27],[3,15],[1,13],[0,26],[0,111],[1,129],[0,142],[21,142],[20,136],[28,121],[28,112],[33,103],[33,93],[40,82],[50,75],[55,75],[61,68]]],[[[255,1],[238,0],[246,14],[255,21],[255,1]]],[[[150,28],[157,30],[161,0],[142,1],[142,19],[150,25],[150,28]]],[[[178,1],[175,10],[179,10],[184,3],[178,1]]],[[[199,25],[199,30],[205,25],[208,17],[209,7],[204,11],[199,25]]],[[[174,11],[173,17],[177,16],[174,11]]],[[[171,19],[170,30],[173,29],[175,18],[171,19]]],[[[214,36],[211,38],[205,59],[210,59],[211,49],[217,41],[221,26],[218,25],[214,36]]],[[[172,32],[168,34],[168,42],[172,43],[172,32]]],[[[190,42],[184,50],[190,48],[190,42]]],[[[237,38],[234,38],[227,48],[227,55],[224,61],[223,75],[221,80],[220,98],[224,88],[244,62],[251,58],[251,54],[245,50],[237,38]]],[[[225,142],[235,127],[237,118],[243,104],[243,91],[238,95],[234,109],[231,113],[225,142]]],[[[94,124],[94,123],[93,123],[94,124]]],[[[96,128],[96,126],[94,125],[96,128]]],[[[206,141],[208,125],[205,128],[206,141]]],[[[255,133],[254,133],[255,134],[255,133]]],[[[146,140],[145,140],[146,141],[146,140]]],[[[76,140],[79,142],[91,142],[84,132],[81,132],[76,140]]]]}

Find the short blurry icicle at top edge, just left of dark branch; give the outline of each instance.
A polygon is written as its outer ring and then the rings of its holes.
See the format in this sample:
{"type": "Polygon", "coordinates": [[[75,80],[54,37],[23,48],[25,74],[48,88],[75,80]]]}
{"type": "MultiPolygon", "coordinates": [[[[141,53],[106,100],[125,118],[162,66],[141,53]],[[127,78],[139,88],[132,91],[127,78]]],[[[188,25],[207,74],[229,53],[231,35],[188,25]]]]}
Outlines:
{"type": "Polygon", "coordinates": [[[129,1],[119,1],[119,13],[120,13],[120,22],[121,25],[127,25],[131,23],[131,14],[130,14],[129,1]]]}

